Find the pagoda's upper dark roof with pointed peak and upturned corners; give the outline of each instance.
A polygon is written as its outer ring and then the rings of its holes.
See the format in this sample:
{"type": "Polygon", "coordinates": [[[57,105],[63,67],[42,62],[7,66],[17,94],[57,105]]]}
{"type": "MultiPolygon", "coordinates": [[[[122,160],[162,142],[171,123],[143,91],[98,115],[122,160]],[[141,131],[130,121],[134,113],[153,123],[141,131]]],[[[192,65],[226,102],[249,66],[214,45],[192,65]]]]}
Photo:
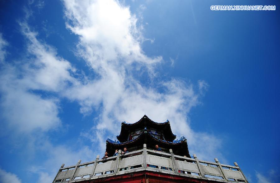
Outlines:
{"type": "Polygon", "coordinates": [[[152,127],[157,129],[158,131],[163,131],[166,141],[173,141],[176,138],[176,135],[172,133],[170,123],[168,120],[164,123],[156,123],[144,115],[138,122],[136,123],[126,123],[122,122],[121,132],[117,139],[120,142],[126,142],[128,139],[128,134],[136,129],[144,129],[144,127],[152,127]]]}

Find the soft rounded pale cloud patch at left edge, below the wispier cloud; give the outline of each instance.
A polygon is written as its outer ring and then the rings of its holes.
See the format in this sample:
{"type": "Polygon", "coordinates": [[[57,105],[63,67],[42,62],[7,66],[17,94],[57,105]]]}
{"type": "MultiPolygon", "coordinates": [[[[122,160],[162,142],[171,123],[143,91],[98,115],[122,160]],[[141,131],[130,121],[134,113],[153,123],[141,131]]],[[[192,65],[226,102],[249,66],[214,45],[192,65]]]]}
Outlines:
{"type": "Polygon", "coordinates": [[[45,131],[60,123],[55,99],[42,99],[38,95],[16,88],[15,85],[5,88],[2,98],[2,117],[7,120],[10,129],[14,128],[19,132],[30,132],[34,129],[45,131]]]}

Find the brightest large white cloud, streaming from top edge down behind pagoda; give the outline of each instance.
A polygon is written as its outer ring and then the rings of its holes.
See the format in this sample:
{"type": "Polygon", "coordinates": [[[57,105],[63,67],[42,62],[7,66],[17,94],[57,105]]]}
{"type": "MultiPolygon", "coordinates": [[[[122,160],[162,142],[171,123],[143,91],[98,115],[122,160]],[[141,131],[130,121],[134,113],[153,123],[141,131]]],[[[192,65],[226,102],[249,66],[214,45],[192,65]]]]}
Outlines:
{"type": "Polygon", "coordinates": [[[120,121],[135,122],[146,113],[154,121],[169,118],[172,130],[184,134],[201,158],[222,157],[217,153],[221,140],[196,133],[189,126],[188,113],[199,104],[199,96],[208,87],[206,82],[198,82],[198,92],[190,83],[179,79],[143,85],[137,79],[139,70],[153,73],[150,77],[156,76],[154,66],[160,63],[161,56],[150,58],[142,51],[143,26],[137,26],[137,18],[129,8],[118,1],[65,0],[64,5],[66,25],[80,38],[78,54],[99,74],[65,92],[69,99],[80,103],[83,114],[92,109],[100,111],[89,132],[95,132],[94,138],[88,135],[91,141],[99,140],[100,148],[104,149],[106,132],[117,135],[120,121]],[[208,144],[208,152],[204,151],[205,144],[208,144]]]}

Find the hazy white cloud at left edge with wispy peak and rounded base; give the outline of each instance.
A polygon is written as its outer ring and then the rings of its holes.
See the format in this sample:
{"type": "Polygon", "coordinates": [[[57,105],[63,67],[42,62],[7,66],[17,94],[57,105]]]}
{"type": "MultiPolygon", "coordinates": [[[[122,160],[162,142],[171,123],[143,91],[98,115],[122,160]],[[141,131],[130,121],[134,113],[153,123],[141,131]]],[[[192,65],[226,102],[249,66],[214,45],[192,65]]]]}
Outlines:
{"type": "Polygon", "coordinates": [[[36,33],[21,23],[28,39],[29,56],[12,65],[3,63],[1,71],[1,114],[7,126],[20,132],[43,131],[57,127],[59,100],[55,96],[42,97],[40,91],[59,92],[75,83],[70,63],[58,56],[54,48],[40,43],[36,33]],[[36,91],[39,91],[36,93],[36,91]]]}

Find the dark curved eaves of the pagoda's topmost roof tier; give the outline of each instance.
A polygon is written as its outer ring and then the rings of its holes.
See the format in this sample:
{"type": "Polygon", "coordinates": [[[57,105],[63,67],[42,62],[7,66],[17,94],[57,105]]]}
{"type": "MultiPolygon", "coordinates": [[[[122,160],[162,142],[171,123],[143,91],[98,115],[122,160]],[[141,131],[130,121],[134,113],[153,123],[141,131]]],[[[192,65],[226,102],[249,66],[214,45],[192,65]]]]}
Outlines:
{"type": "Polygon", "coordinates": [[[122,126],[121,126],[121,132],[120,132],[120,134],[117,136],[117,139],[119,140],[119,141],[122,141],[122,140],[124,140],[127,136],[128,136],[128,130],[126,130],[125,128],[127,127],[127,128],[133,128],[133,127],[137,127],[137,126],[139,126],[139,124],[140,123],[144,123],[144,119],[146,119],[147,118],[147,120],[150,122],[150,123],[152,123],[152,124],[154,124],[154,125],[156,125],[156,126],[158,126],[159,125],[159,127],[164,127],[165,125],[167,125],[168,126],[168,128],[170,129],[170,138],[169,139],[171,139],[171,140],[174,140],[175,138],[176,138],[176,135],[172,132],[172,130],[171,130],[171,126],[170,126],[170,123],[169,123],[169,121],[167,120],[166,122],[164,122],[164,123],[156,123],[156,122],[154,122],[154,121],[152,121],[150,118],[148,118],[146,115],[144,115],[138,122],[136,122],[136,123],[125,123],[125,122],[122,122],[122,126]]]}

